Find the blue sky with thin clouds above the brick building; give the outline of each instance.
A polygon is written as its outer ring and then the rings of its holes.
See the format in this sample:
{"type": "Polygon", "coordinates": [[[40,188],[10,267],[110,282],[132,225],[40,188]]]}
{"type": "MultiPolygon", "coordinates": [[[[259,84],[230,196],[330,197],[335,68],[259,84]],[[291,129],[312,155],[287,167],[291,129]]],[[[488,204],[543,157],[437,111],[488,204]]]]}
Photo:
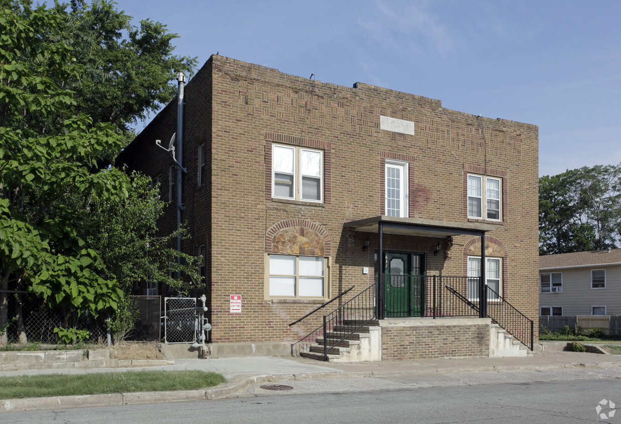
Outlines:
{"type": "MultiPolygon", "coordinates": [[[[621,1],[119,0],[220,55],[539,126],[539,174],[621,162],[621,1]]],[[[138,125],[137,129],[142,129],[138,125]]]]}

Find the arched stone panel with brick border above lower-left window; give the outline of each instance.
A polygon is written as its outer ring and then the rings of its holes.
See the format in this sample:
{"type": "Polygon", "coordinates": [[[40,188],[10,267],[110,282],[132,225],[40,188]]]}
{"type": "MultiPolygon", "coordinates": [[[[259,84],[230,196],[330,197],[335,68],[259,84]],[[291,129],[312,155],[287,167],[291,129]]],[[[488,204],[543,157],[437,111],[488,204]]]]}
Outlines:
{"type": "Polygon", "coordinates": [[[332,255],[332,240],[319,224],[307,219],[275,223],[265,233],[265,251],[284,255],[332,255]]]}

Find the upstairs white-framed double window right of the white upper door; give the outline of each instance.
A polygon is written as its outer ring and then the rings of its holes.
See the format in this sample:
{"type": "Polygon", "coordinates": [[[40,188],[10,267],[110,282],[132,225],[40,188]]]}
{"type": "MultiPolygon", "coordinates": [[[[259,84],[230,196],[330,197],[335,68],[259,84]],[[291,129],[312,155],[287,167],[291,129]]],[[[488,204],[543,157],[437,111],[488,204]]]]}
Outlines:
{"type": "Polygon", "coordinates": [[[468,218],[501,220],[501,193],[500,178],[468,174],[468,218]]]}

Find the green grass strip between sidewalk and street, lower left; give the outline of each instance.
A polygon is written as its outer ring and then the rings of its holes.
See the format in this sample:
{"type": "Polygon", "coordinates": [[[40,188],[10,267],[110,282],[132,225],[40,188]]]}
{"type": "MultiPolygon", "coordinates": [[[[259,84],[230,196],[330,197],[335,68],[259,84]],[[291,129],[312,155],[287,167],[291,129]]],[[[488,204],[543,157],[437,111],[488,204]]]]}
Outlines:
{"type": "Polygon", "coordinates": [[[225,381],[222,374],[204,371],[130,371],[74,376],[49,374],[0,377],[0,399],[206,389],[225,381]]]}

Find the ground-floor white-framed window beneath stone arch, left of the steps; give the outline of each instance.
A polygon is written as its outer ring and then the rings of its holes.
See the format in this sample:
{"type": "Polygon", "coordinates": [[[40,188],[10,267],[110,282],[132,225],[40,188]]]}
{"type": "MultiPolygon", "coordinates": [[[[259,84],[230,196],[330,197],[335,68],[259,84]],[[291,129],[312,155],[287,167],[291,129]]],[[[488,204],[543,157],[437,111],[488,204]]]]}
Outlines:
{"type": "Polygon", "coordinates": [[[326,259],[321,256],[270,255],[270,297],[323,298],[326,259]]]}

